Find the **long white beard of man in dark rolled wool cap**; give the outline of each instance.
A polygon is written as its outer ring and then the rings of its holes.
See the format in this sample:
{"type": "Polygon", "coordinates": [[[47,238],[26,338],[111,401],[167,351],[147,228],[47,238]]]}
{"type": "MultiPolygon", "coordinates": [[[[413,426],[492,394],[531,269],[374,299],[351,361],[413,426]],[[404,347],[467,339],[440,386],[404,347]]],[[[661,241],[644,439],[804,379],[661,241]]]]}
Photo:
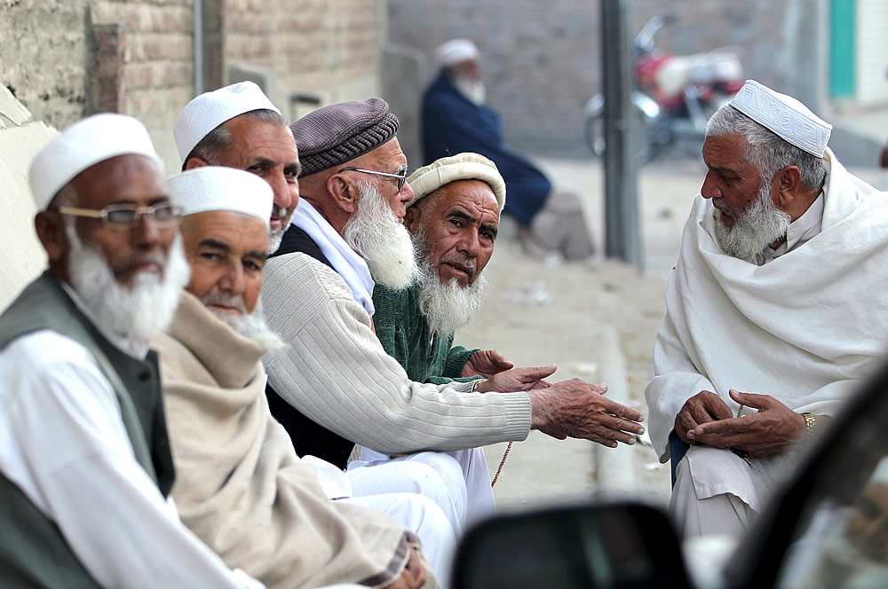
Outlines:
{"type": "Polygon", "coordinates": [[[375,282],[403,290],[416,278],[410,232],[373,185],[359,186],[361,200],[345,224],[345,243],[364,258],[375,282]]]}

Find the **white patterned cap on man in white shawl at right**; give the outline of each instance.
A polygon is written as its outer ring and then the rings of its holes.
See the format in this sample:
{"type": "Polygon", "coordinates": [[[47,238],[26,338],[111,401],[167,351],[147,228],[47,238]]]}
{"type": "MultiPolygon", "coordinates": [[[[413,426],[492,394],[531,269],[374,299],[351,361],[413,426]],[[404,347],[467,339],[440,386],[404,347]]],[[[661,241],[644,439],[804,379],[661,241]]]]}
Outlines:
{"type": "Polygon", "coordinates": [[[823,157],[832,125],[796,98],[775,92],[755,80],[747,80],[730,104],[787,143],[823,157]]]}

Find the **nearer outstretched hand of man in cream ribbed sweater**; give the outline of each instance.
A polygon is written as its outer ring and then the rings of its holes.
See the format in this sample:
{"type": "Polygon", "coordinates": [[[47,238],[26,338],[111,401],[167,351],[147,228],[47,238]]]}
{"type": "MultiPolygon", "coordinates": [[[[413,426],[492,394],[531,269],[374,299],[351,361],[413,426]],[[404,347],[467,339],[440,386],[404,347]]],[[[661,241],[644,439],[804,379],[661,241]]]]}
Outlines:
{"type": "Polygon", "coordinates": [[[645,432],[638,423],[644,415],[604,397],[605,392],[607,386],[580,379],[532,390],[533,427],[559,440],[578,437],[611,448],[618,442],[635,444],[636,434],[645,432]]]}

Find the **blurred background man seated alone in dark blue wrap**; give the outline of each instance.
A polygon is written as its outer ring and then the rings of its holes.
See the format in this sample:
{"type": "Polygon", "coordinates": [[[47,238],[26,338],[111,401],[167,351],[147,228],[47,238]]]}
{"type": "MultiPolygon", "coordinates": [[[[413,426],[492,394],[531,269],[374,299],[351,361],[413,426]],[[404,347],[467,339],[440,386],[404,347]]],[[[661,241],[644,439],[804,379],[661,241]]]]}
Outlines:
{"type": "Polygon", "coordinates": [[[425,163],[462,152],[493,160],[509,189],[505,212],[518,220],[527,252],[555,251],[567,260],[589,257],[595,248],[579,197],[553,190],[542,171],[506,147],[499,115],[485,98],[479,57],[468,39],[453,39],[435,50],[441,70],[422,105],[425,163]]]}

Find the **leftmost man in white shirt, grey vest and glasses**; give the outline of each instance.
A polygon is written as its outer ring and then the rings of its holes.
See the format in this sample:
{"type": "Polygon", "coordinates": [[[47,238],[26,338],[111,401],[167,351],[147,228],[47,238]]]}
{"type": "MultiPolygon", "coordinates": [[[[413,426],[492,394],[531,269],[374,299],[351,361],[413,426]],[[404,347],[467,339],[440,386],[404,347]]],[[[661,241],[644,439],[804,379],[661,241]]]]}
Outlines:
{"type": "Polygon", "coordinates": [[[188,279],[163,164],[97,114],[29,170],[49,270],[0,316],[4,587],[263,586],[179,521],[155,351],[188,279]]]}

